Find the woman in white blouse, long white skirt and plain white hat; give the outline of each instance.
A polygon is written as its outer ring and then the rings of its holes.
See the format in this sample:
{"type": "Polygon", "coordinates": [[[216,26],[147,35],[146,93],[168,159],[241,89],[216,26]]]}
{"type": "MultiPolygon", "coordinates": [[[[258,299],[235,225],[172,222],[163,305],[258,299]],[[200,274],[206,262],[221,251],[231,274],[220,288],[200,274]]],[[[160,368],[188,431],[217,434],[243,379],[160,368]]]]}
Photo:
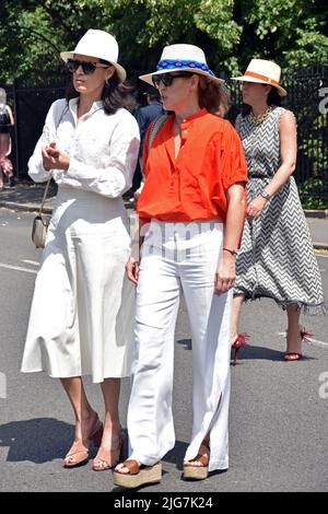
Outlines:
{"type": "Polygon", "coordinates": [[[130,238],[122,194],[131,187],[139,129],[124,108],[128,94],[116,39],[87,31],[61,54],[73,73],[67,100],[55,102],[28,163],[30,176],[58,184],[46,247],[31,307],[22,371],[59,377],[75,417],[66,467],[89,460],[94,470],[116,465],[122,445],[120,377],[130,372],[133,291],[125,278],[130,238]],[[82,375],[101,383],[104,429],[82,375]]]}

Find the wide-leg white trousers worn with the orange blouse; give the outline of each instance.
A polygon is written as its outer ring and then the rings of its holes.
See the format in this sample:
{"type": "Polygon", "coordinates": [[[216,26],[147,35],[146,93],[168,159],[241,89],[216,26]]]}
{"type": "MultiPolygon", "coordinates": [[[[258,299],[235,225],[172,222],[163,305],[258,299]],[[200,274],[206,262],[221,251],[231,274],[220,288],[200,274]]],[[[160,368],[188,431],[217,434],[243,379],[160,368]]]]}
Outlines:
{"type": "Polygon", "coordinates": [[[129,458],[151,466],[174,447],[174,330],[184,291],[192,339],[192,432],[185,459],[210,432],[209,469],[229,467],[232,292],[213,294],[222,252],[219,222],[152,221],[137,288],[136,357],[128,409],[129,458]]]}

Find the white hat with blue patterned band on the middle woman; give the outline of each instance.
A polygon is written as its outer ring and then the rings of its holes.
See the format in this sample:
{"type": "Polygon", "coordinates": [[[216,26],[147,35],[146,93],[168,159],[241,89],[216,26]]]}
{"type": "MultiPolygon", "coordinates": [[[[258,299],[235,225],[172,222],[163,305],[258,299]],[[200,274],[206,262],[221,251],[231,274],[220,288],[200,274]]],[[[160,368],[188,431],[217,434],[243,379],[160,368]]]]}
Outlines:
{"type": "Polygon", "coordinates": [[[157,63],[157,70],[153,73],[141,75],[139,79],[153,85],[153,75],[171,73],[172,71],[191,71],[192,73],[208,77],[218,84],[224,82],[224,80],[218,79],[209,69],[204,52],[201,48],[185,44],[165,46],[160,62],[157,63]]]}

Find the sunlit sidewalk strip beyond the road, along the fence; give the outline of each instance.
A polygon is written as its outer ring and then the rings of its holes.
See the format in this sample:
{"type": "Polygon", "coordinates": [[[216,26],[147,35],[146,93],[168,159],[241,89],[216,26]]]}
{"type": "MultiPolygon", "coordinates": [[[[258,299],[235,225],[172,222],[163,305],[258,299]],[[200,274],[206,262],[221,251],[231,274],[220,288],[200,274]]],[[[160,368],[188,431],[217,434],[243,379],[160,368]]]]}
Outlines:
{"type": "MultiPolygon", "coordinates": [[[[36,212],[39,209],[45,190],[45,184],[16,184],[15,187],[4,187],[0,191],[0,209],[36,212]]],[[[51,185],[48,191],[44,211],[51,213],[56,186],[51,185]]],[[[131,209],[133,202],[126,200],[126,208],[131,209]]],[[[328,217],[327,211],[305,211],[312,233],[314,247],[328,250],[328,217]],[[316,217],[317,215],[317,217],[316,217]]]]}

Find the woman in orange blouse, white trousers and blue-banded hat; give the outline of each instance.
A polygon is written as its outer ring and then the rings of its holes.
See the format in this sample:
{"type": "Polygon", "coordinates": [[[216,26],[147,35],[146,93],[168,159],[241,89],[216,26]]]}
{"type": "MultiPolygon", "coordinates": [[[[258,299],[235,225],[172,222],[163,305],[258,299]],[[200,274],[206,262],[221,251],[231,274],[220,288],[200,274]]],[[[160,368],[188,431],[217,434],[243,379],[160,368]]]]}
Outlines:
{"type": "Polygon", "coordinates": [[[145,184],[138,201],[142,259],[132,254],[127,265],[138,284],[131,454],[114,472],[115,483],[126,488],[160,481],[161,459],[175,444],[173,352],[180,287],[194,373],[184,477],[203,479],[229,466],[231,303],[247,180],[241,140],[220,116],[226,105],[223,81],[200,48],[165,47],[157,71],[141,79],[159,89],[164,108],[174,114],[156,135],[155,121],[145,138],[145,184]]]}

